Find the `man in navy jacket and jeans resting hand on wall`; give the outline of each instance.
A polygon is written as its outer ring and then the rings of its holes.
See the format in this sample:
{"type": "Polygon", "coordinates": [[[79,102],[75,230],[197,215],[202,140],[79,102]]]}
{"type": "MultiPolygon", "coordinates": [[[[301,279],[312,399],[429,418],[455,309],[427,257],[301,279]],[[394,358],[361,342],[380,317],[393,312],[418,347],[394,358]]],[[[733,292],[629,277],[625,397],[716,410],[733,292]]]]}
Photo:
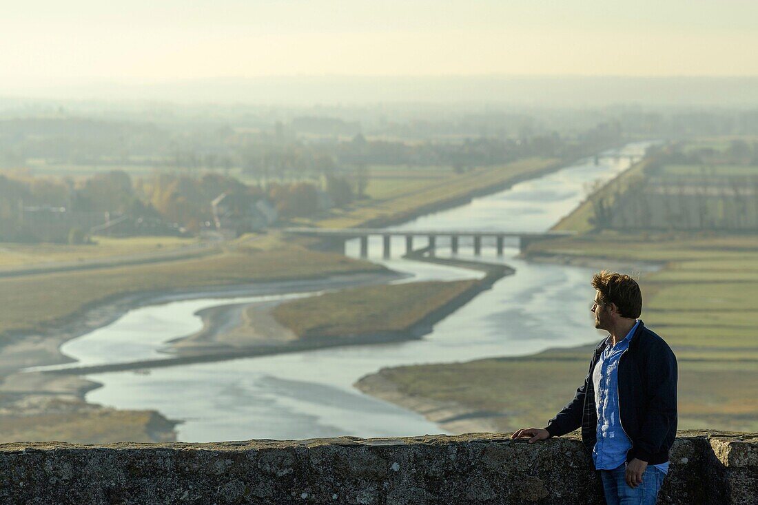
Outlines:
{"type": "Polygon", "coordinates": [[[574,400],[546,428],[522,428],[529,443],[581,427],[609,505],[653,505],[676,435],[677,363],[669,345],[637,319],[640,287],[628,275],[594,274],[590,309],[609,335],[595,348],[574,400]]]}

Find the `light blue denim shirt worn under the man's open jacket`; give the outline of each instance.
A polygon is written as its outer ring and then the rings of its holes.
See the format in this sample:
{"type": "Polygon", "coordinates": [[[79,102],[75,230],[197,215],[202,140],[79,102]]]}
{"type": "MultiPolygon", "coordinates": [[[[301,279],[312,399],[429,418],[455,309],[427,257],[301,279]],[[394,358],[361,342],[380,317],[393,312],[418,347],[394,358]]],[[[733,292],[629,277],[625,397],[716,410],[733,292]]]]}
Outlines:
{"type": "MultiPolygon", "coordinates": [[[[598,470],[612,470],[626,462],[626,453],[631,449],[631,441],[621,424],[619,412],[619,358],[628,350],[637,324],[624,340],[608,345],[600,354],[600,359],[592,372],[595,385],[595,408],[597,409],[597,442],[592,450],[592,460],[598,470]]],[[[663,473],[669,472],[669,462],[654,465],[663,473]]]]}

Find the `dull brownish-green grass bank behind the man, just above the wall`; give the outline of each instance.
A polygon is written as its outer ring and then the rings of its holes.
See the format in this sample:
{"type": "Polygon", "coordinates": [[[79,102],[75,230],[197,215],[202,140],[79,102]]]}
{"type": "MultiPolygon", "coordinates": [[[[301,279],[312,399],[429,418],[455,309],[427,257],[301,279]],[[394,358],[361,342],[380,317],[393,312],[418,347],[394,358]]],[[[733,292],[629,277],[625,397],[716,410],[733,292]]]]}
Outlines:
{"type": "MultiPolygon", "coordinates": [[[[498,412],[502,431],[542,426],[574,396],[591,356],[553,350],[525,358],[480,359],[383,369],[403,394],[455,401],[471,411],[498,412]]],[[[679,359],[679,429],[758,430],[758,364],[679,359]]],[[[489,419],[489,418],[488,418],[489,419]]]]}

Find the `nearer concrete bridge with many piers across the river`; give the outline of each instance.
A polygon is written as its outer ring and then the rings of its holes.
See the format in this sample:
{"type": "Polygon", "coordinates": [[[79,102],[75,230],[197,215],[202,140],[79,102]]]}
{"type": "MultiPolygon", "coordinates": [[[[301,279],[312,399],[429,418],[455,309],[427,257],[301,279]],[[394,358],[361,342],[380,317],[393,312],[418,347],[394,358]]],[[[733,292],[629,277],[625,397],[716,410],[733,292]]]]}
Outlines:
{"type": "Polygon", "coordinates": [[[390,257],[392,237],[406,238],[406,254],[413,251],[414,237],[427,237],[429,253],[434,256],[438,237],[449,238],[450,249],[453,254],[459,250],[460,238],[470,237],[473,243],[475,256],[481,255],[482,239],[494,238],[495,249],[498,256],[503,255],[503,241],[506,237],[518,239],[519,249],[524,251],[530,243],[537,240],[545,240],[557,237],[568,237],[572,232],[548,231],[541,234],[518,231],[488,231],[488,230],[392,230],[389,228],[307,228],[291,227],[283,230],[287,234],[301,237],[318,237],[326,239],[328,249],[345,252],[346,240],[359,239],[361,241],[361,257],[368,257],[368,237],[382,237],[382,256],[390,257]]]}

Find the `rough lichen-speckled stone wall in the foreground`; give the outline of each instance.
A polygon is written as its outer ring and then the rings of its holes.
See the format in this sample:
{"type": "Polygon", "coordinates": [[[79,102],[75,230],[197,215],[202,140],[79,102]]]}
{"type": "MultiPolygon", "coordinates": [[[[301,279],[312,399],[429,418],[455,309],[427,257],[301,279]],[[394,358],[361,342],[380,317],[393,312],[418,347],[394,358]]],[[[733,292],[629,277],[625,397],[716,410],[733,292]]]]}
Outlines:
{"type": "MultiPolygon", "coordinates": [[[[680,432],[659,503],[758,503],[758,434],[680,432]]],[[[0,445],[0,503],[603,503],[581,442],[506,434],[0,445]]]]}

